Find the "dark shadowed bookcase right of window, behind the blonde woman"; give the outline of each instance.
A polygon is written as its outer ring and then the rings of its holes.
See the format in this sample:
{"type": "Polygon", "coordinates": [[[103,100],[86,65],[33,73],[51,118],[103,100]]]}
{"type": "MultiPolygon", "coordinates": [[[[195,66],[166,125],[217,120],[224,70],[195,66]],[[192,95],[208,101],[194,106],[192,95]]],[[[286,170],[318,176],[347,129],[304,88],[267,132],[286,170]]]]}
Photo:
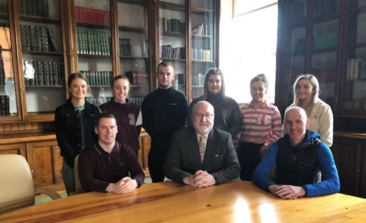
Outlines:
{"type": "Polygon", "coordinates": [[[278,10],[275,105],[283,114],[291,104],[298,75],[318,78],[335,116],[341,192],[365,197],[366,1],[282,0],[278,10]]]}

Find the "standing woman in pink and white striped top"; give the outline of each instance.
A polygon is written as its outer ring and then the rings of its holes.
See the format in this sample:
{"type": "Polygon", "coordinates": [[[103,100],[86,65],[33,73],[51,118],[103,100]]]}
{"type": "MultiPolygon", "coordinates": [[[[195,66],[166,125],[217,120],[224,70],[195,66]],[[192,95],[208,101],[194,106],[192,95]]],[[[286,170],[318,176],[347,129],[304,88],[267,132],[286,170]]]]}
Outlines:
{"type": "Polygon", "coordinates": [[[267,90],[268,80],[263,74],[257,75],[250,81],[252,101],[240,107],[243,124],[236,139],[240,139],[241,180],[252,180],[261,156],[281,136],[281,114],[266,101],[267,90]]]}

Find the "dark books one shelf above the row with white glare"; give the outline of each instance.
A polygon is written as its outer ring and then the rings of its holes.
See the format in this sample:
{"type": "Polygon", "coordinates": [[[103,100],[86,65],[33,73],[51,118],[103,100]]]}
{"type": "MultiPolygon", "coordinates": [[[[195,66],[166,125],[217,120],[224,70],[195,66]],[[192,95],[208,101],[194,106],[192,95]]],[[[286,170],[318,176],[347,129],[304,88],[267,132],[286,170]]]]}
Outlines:
{"type": "Polygon", "coordinates": [[[36,25],[20,25],[20,35],[23,50],[35,50],[44,52],[59,52],[59,44],[56,41],[52,27],[36,25]]]}

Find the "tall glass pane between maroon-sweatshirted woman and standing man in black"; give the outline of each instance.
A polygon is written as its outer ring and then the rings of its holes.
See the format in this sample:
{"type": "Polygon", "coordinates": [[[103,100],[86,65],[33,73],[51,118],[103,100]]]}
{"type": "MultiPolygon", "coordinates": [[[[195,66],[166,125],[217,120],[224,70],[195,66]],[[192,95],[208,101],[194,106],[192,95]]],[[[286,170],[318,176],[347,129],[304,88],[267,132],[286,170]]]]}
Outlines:
{"type": "Polygon", "coordinates": [[[137,105],[150,93],[147,4],[118,2],[120,74],[130,79],[129,100],[137,105]]]}

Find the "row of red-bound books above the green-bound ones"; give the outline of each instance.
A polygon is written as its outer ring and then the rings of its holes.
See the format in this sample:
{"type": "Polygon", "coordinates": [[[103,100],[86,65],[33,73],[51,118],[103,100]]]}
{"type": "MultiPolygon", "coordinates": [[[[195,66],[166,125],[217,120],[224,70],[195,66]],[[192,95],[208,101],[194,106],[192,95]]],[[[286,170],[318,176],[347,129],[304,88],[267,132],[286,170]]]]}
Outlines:
{"type": "Polygon", "coordinates": [[[74,6],[76,22],[89,22],[109,25],[111,17],[109,11],[74,6]]]}

